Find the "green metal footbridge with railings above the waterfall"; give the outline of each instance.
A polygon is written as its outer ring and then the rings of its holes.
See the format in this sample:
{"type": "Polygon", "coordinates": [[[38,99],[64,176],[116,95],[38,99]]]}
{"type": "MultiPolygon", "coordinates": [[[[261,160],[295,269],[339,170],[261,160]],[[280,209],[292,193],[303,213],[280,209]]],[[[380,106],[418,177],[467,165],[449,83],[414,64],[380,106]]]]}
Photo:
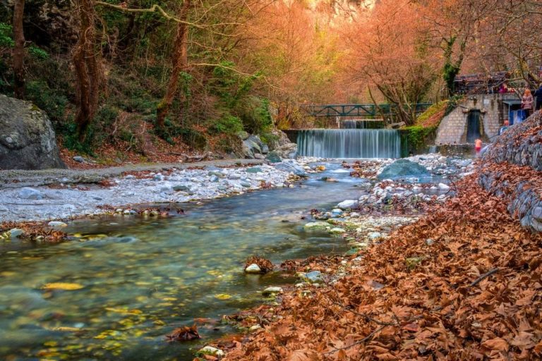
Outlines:
{"type": "MultiPolygon", "coordinates": [[[[431,106],[431,103],[410,104],[416,114],[421,114],[431,106]]],[[[302,104],[299,106],[308,116],[328,117],[359,117],[375,118],[395,116],[399,106],[397,104],[302,104]]]]}

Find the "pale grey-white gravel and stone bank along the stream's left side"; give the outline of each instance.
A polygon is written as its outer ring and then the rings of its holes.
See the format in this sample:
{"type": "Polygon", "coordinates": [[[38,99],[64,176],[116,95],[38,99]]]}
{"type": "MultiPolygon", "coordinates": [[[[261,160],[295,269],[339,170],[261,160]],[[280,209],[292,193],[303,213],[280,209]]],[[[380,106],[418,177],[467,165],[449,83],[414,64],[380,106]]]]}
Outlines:
{"type": "Polygon", "coordinates": [[[303,167],[292,160],[276,166],[262,163],[231,160],[88,171],[3,171],[2,180],[10,179],[11,183],[0,188],[0,221],[70,219],[102,214],[111,207],[126,209],[131,204],[207,200],[287,187],[294,181],[294,173],[304,173],[303,167]],[[225,168],[255,163],[258,165],[225,168]]]}

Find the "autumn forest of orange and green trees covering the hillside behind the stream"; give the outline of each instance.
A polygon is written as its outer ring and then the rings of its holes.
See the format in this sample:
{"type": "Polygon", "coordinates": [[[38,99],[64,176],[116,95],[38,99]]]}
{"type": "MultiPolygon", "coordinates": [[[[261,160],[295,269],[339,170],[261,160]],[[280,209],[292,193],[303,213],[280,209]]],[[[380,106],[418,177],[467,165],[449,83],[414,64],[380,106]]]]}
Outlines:
{"type": "Polygon", "coordinates": [[[312,128],[303,104],[411,104],[460,73],[538,87],[528,0],[16,0],[0,4],[0,92],[47,112],[61,145],[235,154],[241,130],[312,128]]]}

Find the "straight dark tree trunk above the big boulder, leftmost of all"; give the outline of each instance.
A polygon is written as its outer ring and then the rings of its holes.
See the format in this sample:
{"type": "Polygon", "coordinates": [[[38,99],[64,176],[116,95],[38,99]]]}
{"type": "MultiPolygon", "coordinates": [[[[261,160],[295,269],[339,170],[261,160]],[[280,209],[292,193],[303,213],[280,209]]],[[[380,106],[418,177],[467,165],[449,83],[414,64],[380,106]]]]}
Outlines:
{"type": "Polygon", "coordinates": [[[13,91],[15,97],[25,97],[25,32],[23,30],[23,14],[25,0],[16,0],[13,4],[13,91]]]}

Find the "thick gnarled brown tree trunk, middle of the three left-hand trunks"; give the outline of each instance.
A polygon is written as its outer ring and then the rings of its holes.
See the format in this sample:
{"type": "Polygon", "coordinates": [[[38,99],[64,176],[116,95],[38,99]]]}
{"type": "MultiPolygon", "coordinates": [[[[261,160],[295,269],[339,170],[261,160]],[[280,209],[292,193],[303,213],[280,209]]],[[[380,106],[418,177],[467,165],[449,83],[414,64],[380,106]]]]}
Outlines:
{"type": "Polygon", "coordinates": [[[96,114],[102,76],[99,65],[100,56],[94,47],[94,1],[79,0],[78,13],[80,19],[79,38],[73,51],[73,66],[76,69],[77,82],[77,133],[79,141],[83,142],[88,126],[96,114]]]}

